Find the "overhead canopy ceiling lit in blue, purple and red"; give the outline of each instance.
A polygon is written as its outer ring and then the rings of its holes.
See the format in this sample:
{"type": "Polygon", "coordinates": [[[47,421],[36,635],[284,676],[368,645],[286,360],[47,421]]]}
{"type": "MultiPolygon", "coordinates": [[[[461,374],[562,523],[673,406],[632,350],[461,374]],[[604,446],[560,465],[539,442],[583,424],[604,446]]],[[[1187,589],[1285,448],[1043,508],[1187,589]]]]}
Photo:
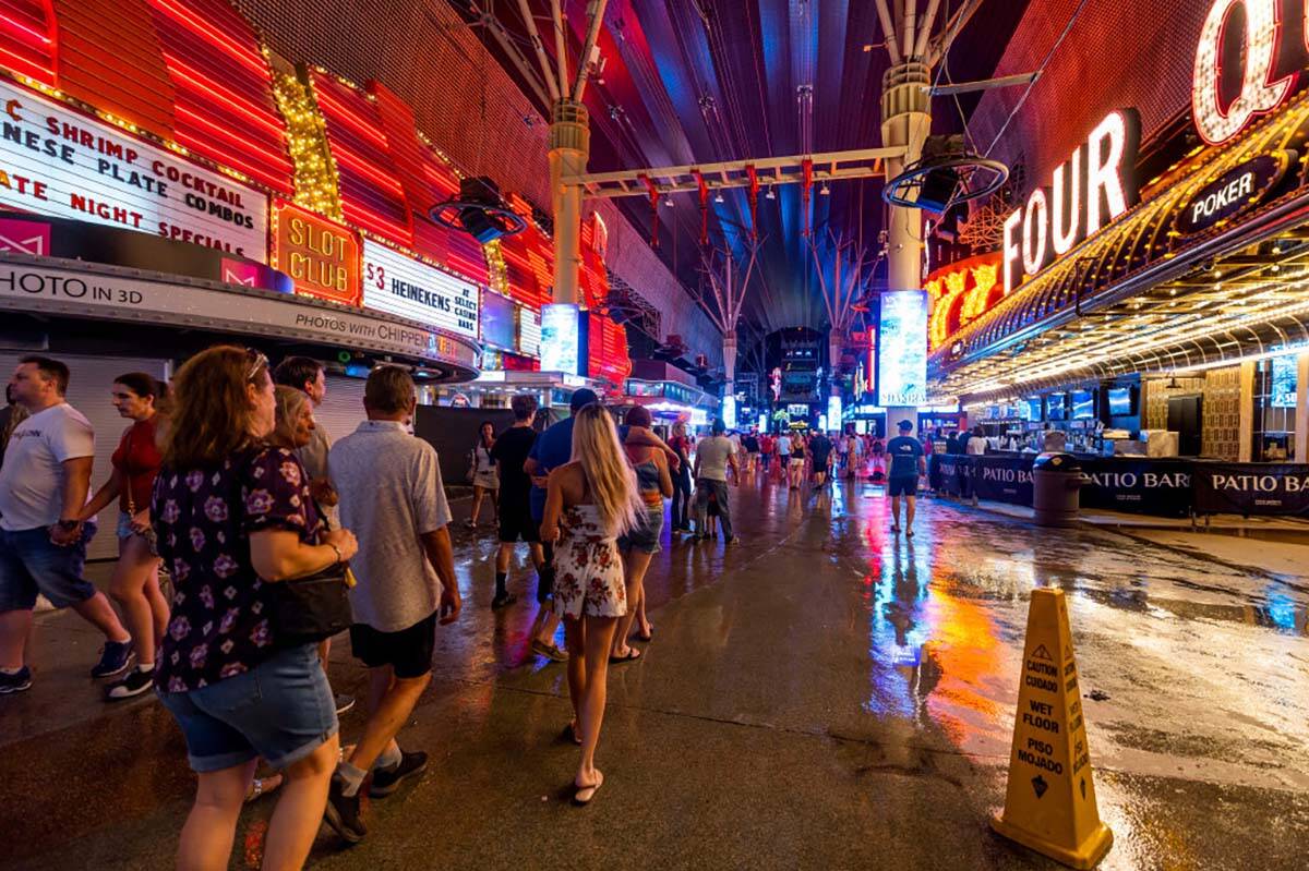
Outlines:
{"type": "MultiPolygon", "coordinates": [[[[511,44],[534,63],[517,0],[446,0],[475,26],[507,72],[525,86],[524,76],[486,26],[484,14],[503,25],[511,44]]],[[[550,0],[529,0],[546,51],[554,55],[550,0]]],[[[910,0],[912,4],[914,0],[910,0]]],[[[569,69],[585,37],[586,0],[564,0],[569,69]]],[[[929,0],[918,0],[923,14],[929,0]]],[[[937,21],[961,0],[942,0],[937,21]]],[[[891,7],[903,8],[901,0],[891,7]]],[[[954,42],[940,81],[988,77],[1028,0],[987,0],[954,42]]],[[[940,27],[940,24],[937,25],[940,27]]],[[[873,0],[609,0],[598,46],[603,71],[586,86],[592,116],[590,171],[681,163],[708,163],[750,157],[780,157],[881,144],[878,97],[889,65],[873,0]]],[[[975,95],[959,103],[932,102],[933,132],[962,132],[962,116],[975,95]]],[[[548,109],[539,103],[543,114],[548,109]]],[[[546,171],[546,167],[542,167],[546,171]]],[[[699,271],[700,216],[694,194],[674,196],[660,207],[660,255],[689,286],[699,271]]],[[[628,216],[651,226],[644,197],[622,201],[628,216]]],[[[863,242],[870,260],[884,226],[878,180],[834,184],[829,196],[813,195],[814,239],[831,273],[830,235],[863,242]]],[[[744,191],[711,203],[712,243],[730,247],[742,264],[749,259],[749,207],[744,191]]],[[[827,327],[827,313],[813,271],[809,242],[801,235],[798,186],[759,196],[763,247],[744,311],[747,327],[771,332],[784,327],[827,327]]],[[[885,281],[878,264],[870,289],[885,281]]]]}

